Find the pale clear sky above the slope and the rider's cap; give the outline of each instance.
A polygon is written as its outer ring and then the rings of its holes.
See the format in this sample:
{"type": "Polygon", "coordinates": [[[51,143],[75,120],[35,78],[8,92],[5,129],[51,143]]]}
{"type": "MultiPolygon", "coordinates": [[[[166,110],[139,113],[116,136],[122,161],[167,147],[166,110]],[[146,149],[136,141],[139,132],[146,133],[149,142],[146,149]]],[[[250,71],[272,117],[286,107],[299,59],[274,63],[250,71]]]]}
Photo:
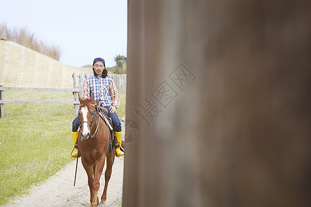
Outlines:
{"type": "Polygon", "coordinates": [[[102,57],[112,67],[115,55],[126,56],[127,0],[6,0],[0,3],[1,23],[59,46],[59,61],[68,66],[102,57]]]}

